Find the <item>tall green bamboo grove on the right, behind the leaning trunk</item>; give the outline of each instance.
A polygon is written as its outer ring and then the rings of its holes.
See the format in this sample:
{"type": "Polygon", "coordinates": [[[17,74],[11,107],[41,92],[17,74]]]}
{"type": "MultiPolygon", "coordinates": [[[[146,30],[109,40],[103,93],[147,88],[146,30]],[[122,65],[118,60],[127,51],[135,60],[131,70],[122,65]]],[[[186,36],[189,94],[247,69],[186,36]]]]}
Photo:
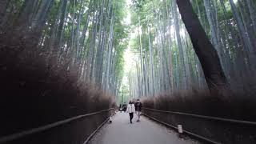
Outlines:
{"type": "MultiPolygon", "coordinates": [[[[256,3],[252,0],[190,2],[218,52],[231,89],[249,86],[248,77],[255,75],[256,3]]],[[[138,68],[134,72],[137,75],[130,74],[134,77],[130,78],[134,82],[133,97],[192,90],[193,87],[205,89],[202,67],[176,2],[133,0],[131,12],[134,29],[142,31],[132,40],[133,49],[139,53],[138,68]]]]}

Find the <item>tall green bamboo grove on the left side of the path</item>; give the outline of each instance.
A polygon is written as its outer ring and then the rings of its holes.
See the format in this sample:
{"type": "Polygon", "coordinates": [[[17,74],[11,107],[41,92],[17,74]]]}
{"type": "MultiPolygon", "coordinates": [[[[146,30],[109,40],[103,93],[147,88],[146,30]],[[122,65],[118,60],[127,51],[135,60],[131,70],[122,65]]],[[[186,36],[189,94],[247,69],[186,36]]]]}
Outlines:
{"type": "Polygon", "coordinates": [[[129,30],[122,24],[124,5],[123,0],[6,1],[0,32],[10,27],[23,38],[37,34],[35,45],[49,64],[77,67],[78,81],[117,94],[129,30]]]}

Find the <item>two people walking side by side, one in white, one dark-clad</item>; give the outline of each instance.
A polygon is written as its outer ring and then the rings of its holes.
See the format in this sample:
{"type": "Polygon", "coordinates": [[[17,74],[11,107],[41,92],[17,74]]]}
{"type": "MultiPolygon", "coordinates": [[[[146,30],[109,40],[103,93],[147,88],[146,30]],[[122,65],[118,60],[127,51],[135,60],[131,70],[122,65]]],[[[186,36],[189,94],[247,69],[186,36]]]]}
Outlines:
{"type": "Polygon", "coordinates": [[[129,113],[130,123],[133,122],[132,120],[134,118],[134,113],[137,114],[137,116],[138,116],[137,122],[139,122],[140,121],[139,118],[142,113],[142,102],[140,102],[139,99],[137,99],[137,102],[135,102],[135,106],[134,106],[134,103],[130,101],[127,106],[126,112],[129,113]]]}

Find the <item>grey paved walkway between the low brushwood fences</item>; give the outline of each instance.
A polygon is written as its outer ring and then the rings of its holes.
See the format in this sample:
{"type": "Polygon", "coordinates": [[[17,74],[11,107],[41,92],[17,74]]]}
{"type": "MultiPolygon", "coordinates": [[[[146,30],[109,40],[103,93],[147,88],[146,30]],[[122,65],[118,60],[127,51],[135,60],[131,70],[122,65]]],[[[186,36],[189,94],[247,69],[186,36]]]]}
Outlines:
{"type": "Polygon", "coordinates": [[[106,124],[91,140],[90,144],[198,144],[190,138],[178,138],[178,134],[148,118],[130,124],[126,113],[118,112],[113,123],[106,124]]]}

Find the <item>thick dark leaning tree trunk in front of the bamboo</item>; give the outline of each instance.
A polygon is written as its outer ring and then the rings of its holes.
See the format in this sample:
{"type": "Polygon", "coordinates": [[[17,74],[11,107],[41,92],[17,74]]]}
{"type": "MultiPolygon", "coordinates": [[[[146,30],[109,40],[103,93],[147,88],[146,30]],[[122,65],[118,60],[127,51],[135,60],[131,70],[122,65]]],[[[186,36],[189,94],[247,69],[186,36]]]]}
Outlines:
{"type": "Polygon", "coordinates": [[[211,94],[225,94],[226,90],[230,89],[230,85],[222,70],[217,51],[207,38],[206,32],[203,30],[198,16],[194,13],[190,1],[177,0],[177,4],[182,15],[182,21],[185,23],[194,50],[201,62],[211,94]]]}

